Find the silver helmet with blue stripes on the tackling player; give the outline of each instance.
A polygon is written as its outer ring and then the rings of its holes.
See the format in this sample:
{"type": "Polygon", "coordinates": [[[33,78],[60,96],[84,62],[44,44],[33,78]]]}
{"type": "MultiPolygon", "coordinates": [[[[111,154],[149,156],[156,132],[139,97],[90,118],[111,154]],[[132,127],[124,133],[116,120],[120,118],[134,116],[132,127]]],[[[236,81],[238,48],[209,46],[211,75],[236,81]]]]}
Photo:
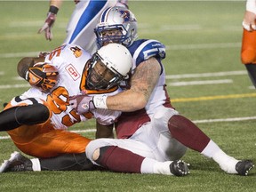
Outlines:
{"type": "Polygon", "coordinates": [[[134,14],[125,7],[109,7],[100,15],[100,21],[94,28],[98,48],[104,44],[117,43],[129,47],[138,37],[137,20],[134,14]],[[106,31],[119,31],[113,35],[104,36],[106,31]]]}

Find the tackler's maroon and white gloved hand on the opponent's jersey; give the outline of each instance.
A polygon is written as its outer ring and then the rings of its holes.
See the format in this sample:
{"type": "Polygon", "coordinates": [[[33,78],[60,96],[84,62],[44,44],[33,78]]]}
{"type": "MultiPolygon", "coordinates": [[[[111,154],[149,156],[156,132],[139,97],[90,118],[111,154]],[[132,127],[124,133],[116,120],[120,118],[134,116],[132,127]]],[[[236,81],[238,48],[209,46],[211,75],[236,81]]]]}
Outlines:
{"type": "Polygon", "coordinates": [[[84,114],[95,109],[93,97],[85,94],[70,97],[69,104],[76,109],[78,114],[84,114]]]}

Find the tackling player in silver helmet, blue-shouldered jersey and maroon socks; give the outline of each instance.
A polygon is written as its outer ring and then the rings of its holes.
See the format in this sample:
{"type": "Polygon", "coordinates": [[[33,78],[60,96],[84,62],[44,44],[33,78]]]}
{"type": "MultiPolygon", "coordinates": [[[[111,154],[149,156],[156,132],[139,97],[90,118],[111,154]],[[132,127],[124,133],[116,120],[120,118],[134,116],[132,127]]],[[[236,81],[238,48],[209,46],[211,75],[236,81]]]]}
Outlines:
{"type": "Polygon", "coordinates": [[[131,87],[124,92],[107,97],[78,96],[76,109],[80,113],[86,111],[82,106],[88,103],[93,103],[92,108],[124,111],[116,123],[116,136],[123,140],[93,140],[87,146],[86,155],[93,164],[115,172],[140,172],[141,167],[150,170],[152,162],[138,154],[155,156],[157,161],[173,161],[191,148],[211,158],[224,172],[248,174],[253,166],[251,160],[228,156],[196,124],[172,107],[162,63],[164,44],[153,39],[136,40],[137,21],[130,10],[108,8],[101,14],[95,33],[100,47],[113,42],[124,44],[132,53],[133,63],[128,80],[131,87]],[[144,145],[136,148],[134,143],[138,141],[144,145]]]}

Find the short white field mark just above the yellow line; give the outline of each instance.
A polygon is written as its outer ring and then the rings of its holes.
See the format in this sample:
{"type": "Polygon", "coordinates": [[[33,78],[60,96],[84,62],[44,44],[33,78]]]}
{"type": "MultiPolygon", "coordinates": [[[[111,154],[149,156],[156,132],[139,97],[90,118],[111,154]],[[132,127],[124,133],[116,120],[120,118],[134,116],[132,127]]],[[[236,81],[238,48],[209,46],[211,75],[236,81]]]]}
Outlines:
{"type": "Polygon", "coordinates": [[[232,84],[232,79],[219,79],[219,80],[205,80],[205,81],[187,81],[187,82],[173,82],[169,83],[170,86],[187,86],[197,84],[232,84]]]}

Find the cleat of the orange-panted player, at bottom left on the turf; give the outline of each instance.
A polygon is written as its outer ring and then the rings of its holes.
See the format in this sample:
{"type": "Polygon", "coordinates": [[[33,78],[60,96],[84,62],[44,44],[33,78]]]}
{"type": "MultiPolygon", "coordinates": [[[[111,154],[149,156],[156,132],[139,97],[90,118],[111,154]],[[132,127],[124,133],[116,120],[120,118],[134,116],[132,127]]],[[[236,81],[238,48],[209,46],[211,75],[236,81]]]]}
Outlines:
{"type": "Polygon", "coordinates": [[[0,172],[28,172],[32,171],[32,162],[26,156],[15,151],[9,160],[5,160],[0,166],[0,172]]]}

